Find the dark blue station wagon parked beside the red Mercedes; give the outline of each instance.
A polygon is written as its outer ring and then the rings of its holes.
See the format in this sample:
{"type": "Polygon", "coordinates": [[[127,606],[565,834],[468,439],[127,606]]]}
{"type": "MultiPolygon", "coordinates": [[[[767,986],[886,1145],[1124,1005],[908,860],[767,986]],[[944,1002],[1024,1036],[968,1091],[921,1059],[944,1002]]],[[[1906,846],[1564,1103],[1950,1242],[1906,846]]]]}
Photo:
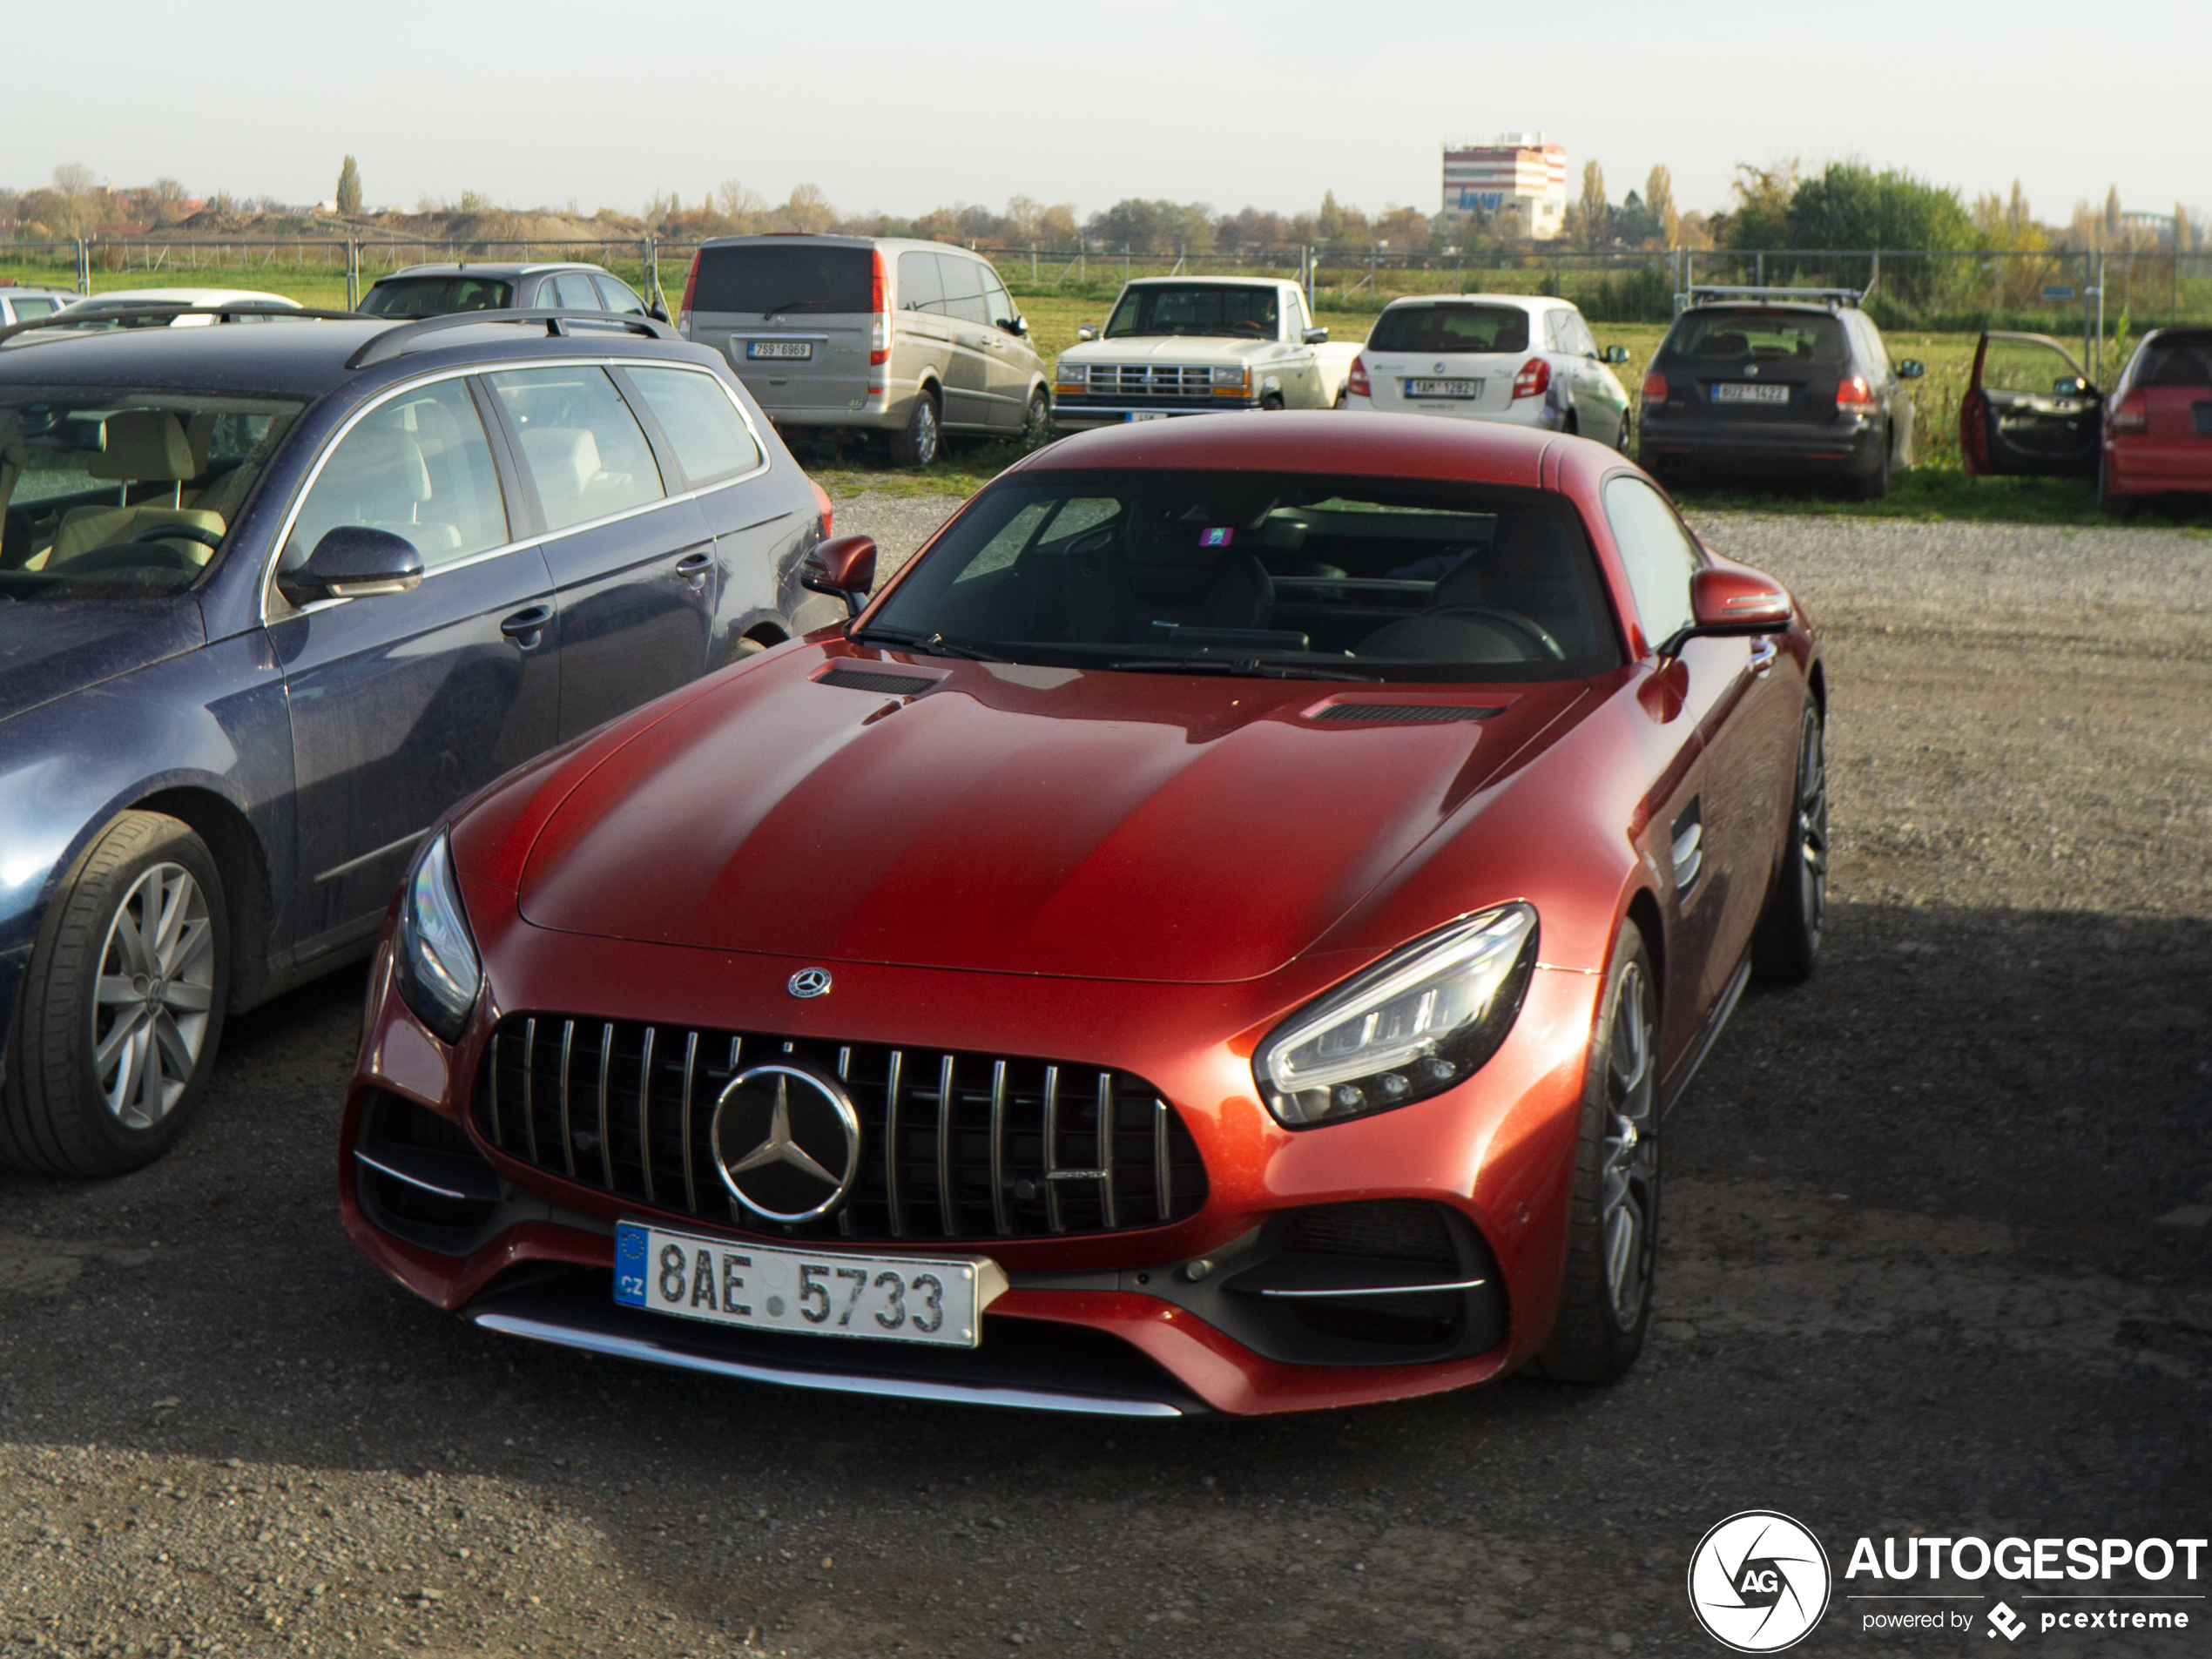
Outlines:
{"type": "Polygon", "coordinates": [[[0,1161],[146,1164],[431,818],[805,626],[827,502],[710,354],[460,321],[0,358],[0,1161]]]}

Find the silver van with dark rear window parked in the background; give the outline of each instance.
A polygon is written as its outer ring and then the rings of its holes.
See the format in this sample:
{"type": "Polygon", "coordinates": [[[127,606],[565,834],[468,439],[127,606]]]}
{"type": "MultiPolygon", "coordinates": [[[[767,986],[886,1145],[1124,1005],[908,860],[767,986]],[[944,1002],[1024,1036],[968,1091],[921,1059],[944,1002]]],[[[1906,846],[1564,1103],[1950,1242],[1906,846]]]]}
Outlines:
{"type": "Polygon", "coordinates": [[[730,358],[779,427],[885,431],[927,467],[940,434],[1042,440],[1044,363],[991,261],[896,237],[717,237],[677,332],[730,358]]]}

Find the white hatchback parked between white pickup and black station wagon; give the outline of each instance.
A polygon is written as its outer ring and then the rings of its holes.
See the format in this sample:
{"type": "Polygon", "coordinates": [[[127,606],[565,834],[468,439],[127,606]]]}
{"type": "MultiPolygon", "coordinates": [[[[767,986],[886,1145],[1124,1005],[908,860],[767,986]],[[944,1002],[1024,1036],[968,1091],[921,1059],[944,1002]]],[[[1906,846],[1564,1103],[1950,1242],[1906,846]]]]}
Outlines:
{"type": "Polygon", "coordinates": [[[1564,299],[1394,299],[1352,363],[1347,409],[1440,414],[1573,431],[1628,453],[1628,394],[1582,312],[1564,299]]]}

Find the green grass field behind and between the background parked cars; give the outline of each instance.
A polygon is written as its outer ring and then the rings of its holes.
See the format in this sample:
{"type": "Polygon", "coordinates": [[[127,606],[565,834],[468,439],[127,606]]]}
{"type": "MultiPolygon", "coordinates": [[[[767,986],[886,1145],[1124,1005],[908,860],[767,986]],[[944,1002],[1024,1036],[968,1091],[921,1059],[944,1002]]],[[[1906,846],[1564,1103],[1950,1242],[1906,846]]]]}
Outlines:
{"type": "MultiPolygon", "coordinates": [[[[644,283],[644,270],[635,263],[613,263],[613,270],[630,283],[644,283]]],[[[1037,354],[1051,363],[1060,352],[1075,345],[1075,330],[1084,323],[1099,323],[1113,305],[1119,288],[1119,272],[1110,261],[1099,261],[1102,279],[1086,292],[1055,290],[1048,283],[1029,283],[1026,274],[1009,268],[1022,314],[1029,319],[1031,341],[1037,354]]],[[[0,261],[0,276],[13,276],[22,285],[71,288],[73,272],[55,265],[29,265],[0,261]]],[[[664,281],[668,268],[661,270],[664,281]]],[[[316,263],[223,263],[206,270],[95,270],[93,292],[115,292],[122,288],[254,288],[296,299],[301,305],[345,305],[345,272],[336,265],[316,263]]],[[[1349,303],[1332,305],[1332,292],[1316,294],[1314,321],[1329,330],[1334,341],[1365,341],[1374,327],[1376,310],[1385,296],[1360,294],[1349,303]]],[[[1630,398],[1644,383],[1644,365],[1659,349],[1666,334],[1663,323],[1593,323],[1599,345],[1626,345],[1628,363],[1621,363],[1621,385],[1630,398]]],[[[1966,389],[1973,367],[1975,334],[1916,334],[1898,330],[1885,334],[1891,358],[1918,358],[1927,363],[1927,378],[1913,383],[1913,425],[1918,434],[1918,467],[1900,473],[1887,500],[1851,502],[1825,495],[1812,487],[1774,489],[1697,489],[1681,493],[1688,507],[1739,509],[1763,513],[1816,513],[1849,518],[1907,518],[1907,520],[2006,520],[2026,524],[2101,524],[2108,522],[2097,511],[2097,493],[2088,482],[2066,478],[1966,478],[1958,456],[1958,400],[1966,389]]],[[[2068,341],[2073,345],[2073,341],[2068,341]]],[[[838,445],[818,438],[799,438],[794,449],[801,462],[821,473],[825,482],[845,489],[880,489],[891,493],[949,493],[971,495],[993,473],[1006,467],[1020,451],[1004,442],[958,442],[936,467],[922,473],[891,469],[880,456],[860,445],[838,445]]],[[[2141,509],[2135,522],[2183,526],[2212,533],[2212,507],[2194,511],[2172,507],[2141,509]]]]}

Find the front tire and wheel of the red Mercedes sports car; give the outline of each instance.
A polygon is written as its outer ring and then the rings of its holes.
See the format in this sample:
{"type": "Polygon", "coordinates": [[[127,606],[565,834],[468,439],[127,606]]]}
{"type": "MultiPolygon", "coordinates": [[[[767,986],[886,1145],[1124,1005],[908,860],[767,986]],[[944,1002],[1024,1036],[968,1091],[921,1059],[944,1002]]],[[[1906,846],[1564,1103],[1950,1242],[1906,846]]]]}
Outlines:
{"type": "Polygon", "coordinates": [[[1575,1141],[1559,1314],[1535,1367],[1555,1383],[1613,1383],[1652,1318],[1659,1243],[1659,991],[1635,922],[1613,942],[1575,1141]]]}

